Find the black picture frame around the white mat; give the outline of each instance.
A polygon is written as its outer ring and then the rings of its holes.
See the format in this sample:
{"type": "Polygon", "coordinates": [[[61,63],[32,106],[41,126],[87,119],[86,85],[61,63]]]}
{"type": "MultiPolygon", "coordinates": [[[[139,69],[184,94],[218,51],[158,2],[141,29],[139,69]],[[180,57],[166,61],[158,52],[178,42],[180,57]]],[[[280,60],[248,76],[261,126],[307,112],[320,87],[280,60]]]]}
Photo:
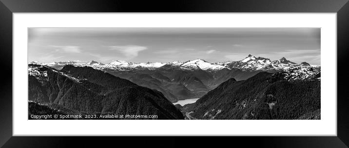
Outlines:
{"type": "MultiPolygon", "coordinates": [[[[225,137],[229,143],[247,146],[287,148],[347,148],[349,146],[349,56],[348,0],[0,0],[0,146],[68,147],[101,146],[130,140],[130,137],[19,137],[12,136],[12,14],[44,12],[285,12],[337,13],[337,136],[225,137]],[[127,138],[127,139],[126,139],[127,138]],[[111,141],[113,140],[113,141],[111,141]]],[[[335,99],[335,98],[326,98],[335,99]]],[[[287,127],[285,127],[287,128],[287,127]]],[[[188,137],[184,137],[188,138],[188,137]]],[[[133,139],[133,138],[132,138],[133,139]]],[[[199,137],[186,146],[220,146],[211,137],[199,137]]],[[[133,141],[133,142],[132,142],[133,141]]],[[[140,137],[132,146],[181,147],[183,137],[140,137]]],[[[117,144],[119,145],[119,144],[117,144]]],[[[222,145],[223,146],[223,145],[222,145]]]]}

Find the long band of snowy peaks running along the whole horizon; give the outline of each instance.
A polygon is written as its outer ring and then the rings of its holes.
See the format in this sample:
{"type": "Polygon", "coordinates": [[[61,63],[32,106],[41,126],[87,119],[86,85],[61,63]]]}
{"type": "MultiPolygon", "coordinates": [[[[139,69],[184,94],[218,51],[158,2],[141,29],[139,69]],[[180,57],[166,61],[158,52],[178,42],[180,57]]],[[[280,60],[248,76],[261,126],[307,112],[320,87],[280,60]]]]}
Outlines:
{"type": "Polygon", "coordinates": [[[217,62],[210,63],[202,59],[189,60],[186,62],[173,61],[168,63],[161,62],[147,62],[147,63],[134,63],[126,62],[121,60],[116,60],[108,64],[99,63],[97,61],[90,61],[87,63],[77,63],[74,61],[66,62],[52,62],[52,63],[40,63],[38,61],[33,61],[30,63],[46,65],[53,67],[55,69],[61,69],[64,65],[74,65],[74,66],[89,66],[98,70],[111,69],[119,71],[127,71],[133,69],[157,69],[157,68],[180,68],[185,70],[204,70],[204,71],[218,71],[222,69],[240,69],[242,71],[267,71],[267,72],[280,72],[287,71],[294,67],[317,67],[310,65],[309,63],[303,62],[297,64],[287,60],[282,57],[279,60],[271,61],[269,58],[256,57],[248,55],[246,58],[239,61],[227,61],[227,62],[217,62]]]}

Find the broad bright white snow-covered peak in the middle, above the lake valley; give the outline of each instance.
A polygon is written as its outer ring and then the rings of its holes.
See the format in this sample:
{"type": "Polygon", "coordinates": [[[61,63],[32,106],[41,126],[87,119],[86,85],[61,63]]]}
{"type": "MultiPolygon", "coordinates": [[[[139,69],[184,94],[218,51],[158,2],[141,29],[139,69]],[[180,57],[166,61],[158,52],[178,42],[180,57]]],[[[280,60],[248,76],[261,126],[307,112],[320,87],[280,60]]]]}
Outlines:
{"type": "Polygon", "coordinates": [[[216,64],[206,62],[205,60],[202,60],[202,59],[195,59],[195,60],[184,62],[183,64],[180,65],[180,67],[186,68],[186,69],[191,69],[191,70],[201,69],[201,70],[207,70],[207,71],[221,70],[221,69],[227,68],[225,66],[216,65],[216,64]]]}

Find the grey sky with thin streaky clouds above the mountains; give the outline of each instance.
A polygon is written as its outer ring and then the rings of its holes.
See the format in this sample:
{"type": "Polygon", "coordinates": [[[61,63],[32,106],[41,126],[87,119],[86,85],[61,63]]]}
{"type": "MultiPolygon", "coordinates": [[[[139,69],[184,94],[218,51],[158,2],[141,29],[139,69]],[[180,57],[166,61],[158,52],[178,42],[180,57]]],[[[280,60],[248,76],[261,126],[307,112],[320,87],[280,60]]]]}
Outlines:
{"type": "Polygon", "coordinates": [[[29,28],[28,62],[109,63],[204,59],[249,54],[320,65],[319,28],[29,28]]]}

